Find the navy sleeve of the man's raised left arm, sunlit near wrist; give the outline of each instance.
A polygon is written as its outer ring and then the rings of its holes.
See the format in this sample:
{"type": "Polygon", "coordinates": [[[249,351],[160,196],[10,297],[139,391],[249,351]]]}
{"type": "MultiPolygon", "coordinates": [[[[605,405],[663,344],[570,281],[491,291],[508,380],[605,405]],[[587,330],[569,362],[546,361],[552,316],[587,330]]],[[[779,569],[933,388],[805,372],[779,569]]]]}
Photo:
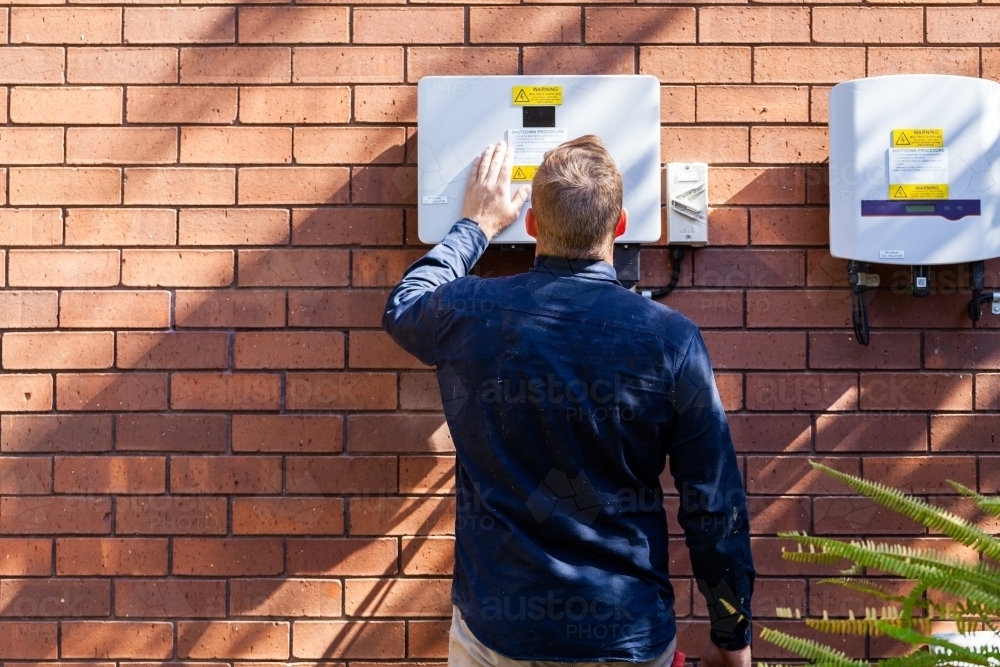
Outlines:
{"type": "Polygon", "coordinates": [[[479,225],[463,218],[441,242],[410,265],[389,294],[382,328],[400,347],[427,365],[437,361],[436,319],[442,286],[463,278],[486,251],[479,225]]]}

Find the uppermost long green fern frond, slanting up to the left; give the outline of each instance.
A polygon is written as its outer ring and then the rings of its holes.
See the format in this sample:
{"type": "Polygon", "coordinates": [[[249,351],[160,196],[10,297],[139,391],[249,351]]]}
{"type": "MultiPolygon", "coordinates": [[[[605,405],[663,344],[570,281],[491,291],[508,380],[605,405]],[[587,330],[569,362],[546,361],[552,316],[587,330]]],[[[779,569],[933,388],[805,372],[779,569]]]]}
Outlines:
{"type": "Polygon", "coordinates": [[[813,468],[818,468],[831,477],[839,479],[879,505],[927,528],[944,533],[956,542],[971,547],[994,560],[1000,560],[1000,540],[979,530],[962,517],[940,507],[935,507],[919,498],[914,498],[899,489],[834,470],[822,463],[813,461],[809,463],[813,468]]]}

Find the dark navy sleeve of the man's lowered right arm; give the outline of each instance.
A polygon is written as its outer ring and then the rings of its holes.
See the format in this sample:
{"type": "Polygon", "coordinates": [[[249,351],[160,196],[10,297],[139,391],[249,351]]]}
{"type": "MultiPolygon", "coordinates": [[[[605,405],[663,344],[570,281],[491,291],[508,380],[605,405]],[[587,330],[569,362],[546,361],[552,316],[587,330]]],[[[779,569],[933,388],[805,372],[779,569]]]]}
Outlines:
{"type": "Polygon", "coordinates": [[[667,455],[680,494],[678,521],[708,603],[712,642],[736,651],[751,643],[750,522],[729,424],[697,330],[677,370],[672,399],[667,455]]]}

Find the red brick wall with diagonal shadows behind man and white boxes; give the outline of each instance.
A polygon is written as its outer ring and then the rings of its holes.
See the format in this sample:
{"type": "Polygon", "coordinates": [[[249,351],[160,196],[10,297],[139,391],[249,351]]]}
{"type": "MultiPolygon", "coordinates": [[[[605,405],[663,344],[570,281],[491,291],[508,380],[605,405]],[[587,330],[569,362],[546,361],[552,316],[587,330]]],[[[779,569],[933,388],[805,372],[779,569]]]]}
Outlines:
{"type": "MultiPolygon", "coordinates": [[[[938,543],[807,458],[948,504],[947,477],[1000,490],[1000,339],[963,270],[883,290],[857,346],[822,166],[831,84],[998,76],[1000,8],[335,2],[0,9],[0,661],[444,658],[453,446],[379,329],[423,251],[428,74],[660,77],[664,161],[713,165],[712,247],[667,303],[732,411],[760,617],[861,607],[778,530],[938,543]]],[[[643,262],[666,282],[663,249],[643,262]]],[[[695,654],[679,536],[674,558],[695,654]]]]}

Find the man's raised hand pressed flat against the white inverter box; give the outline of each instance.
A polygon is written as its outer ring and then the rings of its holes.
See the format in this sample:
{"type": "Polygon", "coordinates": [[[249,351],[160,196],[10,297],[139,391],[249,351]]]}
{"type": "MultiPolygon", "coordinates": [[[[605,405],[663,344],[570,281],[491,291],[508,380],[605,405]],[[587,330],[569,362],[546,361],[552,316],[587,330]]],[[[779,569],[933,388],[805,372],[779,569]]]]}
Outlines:
{"type": "Polygon", "coordinates": [[[486,238],[493,238],[521,215],[521,207],[531,188],[510,196],[510,170],[514,151],[504,142],[491,144],[472,161],[469,184],[465,188],[462,217],[479,223],[486,238]]]}

